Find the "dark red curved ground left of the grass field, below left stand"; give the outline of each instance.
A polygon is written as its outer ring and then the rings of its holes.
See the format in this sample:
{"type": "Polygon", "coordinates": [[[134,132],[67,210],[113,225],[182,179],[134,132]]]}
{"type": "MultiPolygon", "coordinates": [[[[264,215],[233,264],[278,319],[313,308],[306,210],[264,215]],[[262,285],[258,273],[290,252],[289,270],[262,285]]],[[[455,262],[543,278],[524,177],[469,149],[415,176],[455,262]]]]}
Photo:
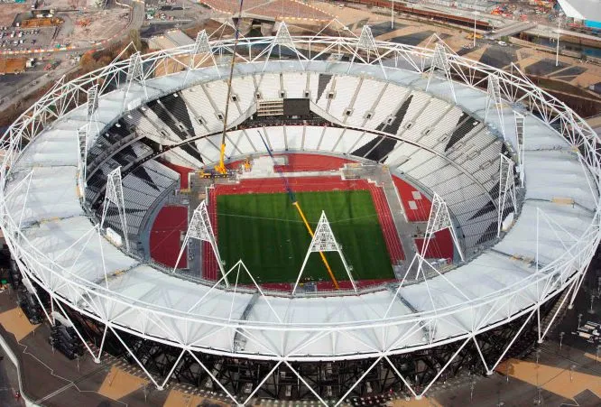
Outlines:
{"type": "MultiPolygon", "coordinates": [[[[150,236],[150,252],[153,260],[174,267],[180,254],[180,236],[188,228],[188,208],[163,207],[154,219],[150,236]]],[[[179,267],[186,267],[186,251],[181,255],[179,267]]]]}

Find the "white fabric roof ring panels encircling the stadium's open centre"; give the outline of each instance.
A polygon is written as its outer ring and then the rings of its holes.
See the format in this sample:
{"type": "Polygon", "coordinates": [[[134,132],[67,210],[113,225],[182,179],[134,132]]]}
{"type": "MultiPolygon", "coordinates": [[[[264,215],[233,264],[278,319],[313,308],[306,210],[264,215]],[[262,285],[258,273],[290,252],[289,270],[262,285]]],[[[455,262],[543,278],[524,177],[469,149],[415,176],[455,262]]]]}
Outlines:
{"type": "MultiPolygon", "coordinates": [[[[273,61],[266,65],[240,64],[236,67],[236,75],[285,71],[294,66],[290,61],[273,61]]],[[[348,68],[347,64],[313,61],[310,70],[351,76],[369,74],[384,79],[382,69],[375,66],[356,65],[348,68]]],[[[213,69],[200,69],[198,73],[198,76],[190,75],[189,83],[218,79],[218,74],[213,69]]],[[[388,70],[386,73],[387,80],[403,86],[425,88],[427,85],[427,80],[422,79],[421,74],[417,72],[388,70]]],[[[168,77],[148,79],[149,98],[171,93],[174,86],[184,86],[181,80],[184,75],[184,72],[180,72],[168,77]]],[[[455,87],[458,105],[472,115],[483,116],[485,93],[461,84],[456,84],[455,87]]],[[[429,92],[438,97],[448,98],[448,88],[444,80],[432,79],[429,92]]],[[[130,108],[139,106],[142,96],[143,89],[133,86],[132,92],[127,95],[119,89],[101,97],[99,120],[102,123],[113,122],[117,116],[122,115],[124,105],[130,108]]],[[[505,114],[509,116],[511,110],[505,108],[505,114]]],[[[495,122],[496,118],[492,116],[488,120],[495,122]]],[[[183,319],[172,319],[170,314],[166,313],[168,310],[178,317],[191,312],[193,319],[203,320],[204,323],[198,325],[198,330],[190,331],[188,340],[205,349],[232,351],[228,347],[232,343],[234,330],[223,329],[220,325],[227,320],[238,319],[244,319],[245,324],[255,326],[248,327],[254,332],[255,340],[248,341],[244,353],[263,357],[286,354],[291,357],[348,357],[357,354],[369,355],[374,349],[382,347],[382,344],[397,349],[420,346],[423,345],[424,339],[419,330],[413,335],[402,334],[411,326],[411,318],[416,312],[429,314],[436,313],[437,310],[451,310],[448,318],[444,321],[439,320],[436,331],[431,333],[431,339],[444,340],[461,336],[470,327],[483,323],[482,315],[488,315],[489,323],[500,321],[507,315],[535,303],[537,286],[540,284],[538,281],[544,278],[543,273],[535,273],[530,261],[516,259],[538,258],[542,264],[550,264],[554,259],[561,257],[566,246],[574,244],[573,236],[581,236],[585,232],[595,207],[586,187],[586,172],[583,171],[576,154],[569,150],[569,145],[549,125],[535,116],[526,116],[525,133],[530,137],[529,150],[525,152],[528,162],[526,201],[519,222],[495,246],[495,253],[480,254],[470,263],[445,273],[444,278],[430,279],[428,284],[415,283],[403,287],[398,293],[402,295],[402,301],[394,301],[397,294],[388,290],[359,296],[259,297],[254,300],[252,291],[211,291],[207,285],[162,273],[117,250],[104,238],[88,239],[85,247],[81,247],[81,242],[86,240],[81,236],[94,233],[93,224],[83,213],[75,193],[76,154],[65,152],[76,151],[78,128],[82,123],[85,123],[84,106],[69,112],[65,119],[38,135],[23,152],[15,166],[14,177],[8,185],[7,193],[11,195],[7,199],[9,212],[14,218],[22,219],[23,226],[26,227],[24,234],[37,250],[51,258],[60,259],[60,264],[70,265],[69,278],[75,278],[79,283],[85,284],[102,282],[103,268],[106,268],[109,275],[106,289],[116,298],[125,301],[110,311],[111,318],[119,319],[125,326],[139,329],[140,320],[135,313],[119,316],[119,313],[130,306],[125,304],[134,301],[138,306],[149,307],[162,314],[162,325],[166,330],[152,326],[145,328],[147,334],[161,338],[165,335],[171,336],[168,332],[177,333],[184,329],[183,319]],[[551,151],[536,150],[542,145],[551,145],[551,151]],[[31,180],[27,180],[27,177],[31,177],[31,180]],[[28,188],[24,189],[23,185],[28,185],[28,188]],[[575,188],[576,185],[583,187],[575,188]],[[58,191],[61,191],[60,199],[57,199],[58,191]],[[575,194],[578,194],[576,200],[580,206],[552,203],[555,197],[575,194]],[[540,217],[550,217],[553,222],[541,221],[540,217]],[[533,232],[537,228],[541,232],[538,250],[537,236],[533,232]],[[566,233],[558,236],[558,230],[566,233]],[[104,253],[104,262],[99,260],[100,253],[104,253]],[[77,264],[74,264],[76,260],[77,264]],[[124,270],[126,273],[121,272],[124,270]],[[449,282],[452,286],[461,287],[461,293],[449,288],[452,287],[448,285],[449,282]],[[161,290],[157,290],[158,287],[161,287],[161,290]],[[492,304],[487,303],[491,296],[499,295],[500,292],[510,295],[516,287],[521,287],[520,295],[513,301],[508,301],[503,308],[495,310],[492,304]],[[429,291],[437,293],[431,302],[429,291]],[[184,292],[186,294],[182,295],[184,292]],[[469,299],[468,304],[465,302],[466,296],[469,299]],[[199,298],[205,300],[197,307],[194,303],[199,298]],[[245,314],[245,309],[252,301],[254,305],[251,312],[245,314]],[[231,307],[231,304],[236,306],[231,307]],[[391,304],[389,310],[388,304],[391,304]],[[482,313],[472,312],[471,307],[475,304],[479,304],[482,313]],[[389,319],[396,319],[396,322],[389,326],[387,338],[382,336],[382,329],[372,326],[377,325],[377,320],[385,315],[389,319]],[[262,326],[272,328],[259,328],[262,326]],[[284,330],[282,333],[277,330],[277,327],[282,326],[302,329],[284,330]],[[327,335],[310,340],[315,329],[325,326],[352,327],[353,334],[341,334],[334,342],[327,335]]],[[[513,121],[507,120],[504,126],[507,133],[514,132],[513,121]]],[[[56,284],[56,291],[70,298],[69,287],[55,279],[53,276],[50,280],[56,284]]],[[[73,298],[73,301],[75,300],[73,298]]],[[[107,310],[110,308],[107,304],[103,305],[104,307],[107,310]]]]}

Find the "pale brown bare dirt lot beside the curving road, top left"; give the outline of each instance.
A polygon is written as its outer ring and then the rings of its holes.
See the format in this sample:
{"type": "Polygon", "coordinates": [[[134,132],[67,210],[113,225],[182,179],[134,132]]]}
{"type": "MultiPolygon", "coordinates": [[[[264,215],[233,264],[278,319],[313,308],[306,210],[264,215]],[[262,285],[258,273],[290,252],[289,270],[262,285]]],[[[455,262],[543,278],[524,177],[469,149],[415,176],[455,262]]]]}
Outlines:
{"type": "Polygon", "coordinates": [[[74,46],[85,46],[90,42],[100,42],[121,32],[128,23],[129,9],[116,8],[110,10],[95,11],[91,13],[59,13],[58,16],[64,21],[60,32],[56,37],[59,43],[70,43],[74,46]],[[87,26],[81,26],[78,22],[89,20],[87,26]]]}

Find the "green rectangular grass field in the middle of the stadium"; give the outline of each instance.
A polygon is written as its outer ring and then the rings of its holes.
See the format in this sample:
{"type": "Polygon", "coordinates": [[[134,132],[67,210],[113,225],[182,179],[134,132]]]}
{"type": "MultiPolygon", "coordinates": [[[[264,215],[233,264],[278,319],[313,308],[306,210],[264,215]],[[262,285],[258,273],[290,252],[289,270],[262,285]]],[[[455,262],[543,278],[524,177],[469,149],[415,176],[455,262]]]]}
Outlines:
{"type": "MultiPolygon", "coordinates": [[[[356,280],[393,278],[384,236],[367,190],[296,194],[313,229],[322,210],[353,266],[356,280]]],[[[310,245],[310,236],[287,194],[217,196],[217,240],[226,269],[240,258],[260,282],[294,282],[310,245]]],[[[328,263],[338,280],[348,280],[337,253],[328,263]]],[[[319,254],[311,254],[303,277],[328,281],[319,254]]],[[[232,282],[234,277],[230,278],[232,282]]],[[[240,274],[240,282],[250,279],[240,274]]]]}

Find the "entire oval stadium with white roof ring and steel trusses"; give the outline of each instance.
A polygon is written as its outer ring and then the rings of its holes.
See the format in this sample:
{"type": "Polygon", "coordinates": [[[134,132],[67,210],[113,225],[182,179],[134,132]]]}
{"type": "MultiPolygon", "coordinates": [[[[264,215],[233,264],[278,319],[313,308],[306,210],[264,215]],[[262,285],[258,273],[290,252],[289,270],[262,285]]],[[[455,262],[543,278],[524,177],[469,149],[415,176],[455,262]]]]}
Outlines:
{"type": "Polygon", "coordinates": [[[596,134],[519,69],[346,34],[199,32],[9,128],[0,226],[62,353],[339,404],[544,340],[599,242],[596,134]]]}

